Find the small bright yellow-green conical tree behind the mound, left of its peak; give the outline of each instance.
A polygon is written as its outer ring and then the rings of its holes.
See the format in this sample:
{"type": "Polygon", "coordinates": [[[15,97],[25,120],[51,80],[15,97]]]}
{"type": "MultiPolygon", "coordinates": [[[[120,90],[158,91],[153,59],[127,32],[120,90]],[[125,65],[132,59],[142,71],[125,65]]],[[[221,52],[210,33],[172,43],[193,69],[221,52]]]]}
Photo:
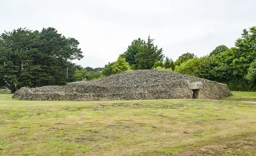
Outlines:
{"type": "Polygon", "coordinates": [[[128,62],[125,61],[125,58],[123,58],[122,55],[119,55],[117,61],[114,62],[112,68],[114,74],[126,72],[131,69],[128,62]]]}

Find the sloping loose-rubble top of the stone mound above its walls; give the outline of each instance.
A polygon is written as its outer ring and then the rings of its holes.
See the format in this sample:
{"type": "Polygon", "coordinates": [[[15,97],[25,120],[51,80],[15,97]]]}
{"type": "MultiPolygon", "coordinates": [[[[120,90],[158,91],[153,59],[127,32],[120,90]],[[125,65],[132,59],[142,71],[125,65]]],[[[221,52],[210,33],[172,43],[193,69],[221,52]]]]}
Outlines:
{"type": "Polygon", "coordinates": [[[159,84],[171,84],[178,81],[201,80],[190,75],[164,70],[135,70],[111,75],[96,81],[79,81],[71,84],[84,84],[101,87],[134,87],[134,86],[155,86],[159,84]]]}

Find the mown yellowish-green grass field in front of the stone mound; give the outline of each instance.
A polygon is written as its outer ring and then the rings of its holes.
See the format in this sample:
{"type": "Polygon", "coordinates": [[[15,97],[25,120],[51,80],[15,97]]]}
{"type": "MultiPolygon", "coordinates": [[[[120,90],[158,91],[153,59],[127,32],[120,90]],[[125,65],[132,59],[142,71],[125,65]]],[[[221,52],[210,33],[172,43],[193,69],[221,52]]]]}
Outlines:
{"type": "Polygon", "coordinates": [[[256,104],[239,102],[254,99],[20,101],[1,93],[0,155],[256,156],[256,104]]]}

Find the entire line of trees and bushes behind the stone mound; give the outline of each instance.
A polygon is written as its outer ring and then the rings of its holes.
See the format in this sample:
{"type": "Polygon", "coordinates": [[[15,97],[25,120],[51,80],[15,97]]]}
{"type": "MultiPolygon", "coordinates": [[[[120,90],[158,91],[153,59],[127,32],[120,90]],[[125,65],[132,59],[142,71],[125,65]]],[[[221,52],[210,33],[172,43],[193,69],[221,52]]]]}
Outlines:
{"type": "Polygon", "coordinates": [[[244,29],[235,46],[217,46],[209,55],[186,52],[176,61],[148,36],[132,41],[116,61],[104,67],[83,68],[71,63],[83,58],[79,42],[65,38],[54,28],[41,32],[17,29],[0,35],[0,82],[10,90],[19,87],[64,85],[95,80],[138,69],[159,69],[225,83],[230,90],[256,91],[256,27],[244,29]]]}

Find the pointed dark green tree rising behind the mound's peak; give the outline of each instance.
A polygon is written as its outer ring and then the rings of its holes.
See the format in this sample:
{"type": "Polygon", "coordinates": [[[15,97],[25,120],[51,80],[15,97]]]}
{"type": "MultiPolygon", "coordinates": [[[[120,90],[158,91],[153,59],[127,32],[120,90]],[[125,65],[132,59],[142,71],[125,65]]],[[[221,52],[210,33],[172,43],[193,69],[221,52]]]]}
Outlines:
{"type": "Polygon", "coordinates": [[[135,69],[151,69],[155,61],[163,60],[163,49],[158,49],[158,46],[154,46],[153,41],[154,39],[148,36],[148,42],[139,47],[139,52],[134,56],[135,69]]]}

